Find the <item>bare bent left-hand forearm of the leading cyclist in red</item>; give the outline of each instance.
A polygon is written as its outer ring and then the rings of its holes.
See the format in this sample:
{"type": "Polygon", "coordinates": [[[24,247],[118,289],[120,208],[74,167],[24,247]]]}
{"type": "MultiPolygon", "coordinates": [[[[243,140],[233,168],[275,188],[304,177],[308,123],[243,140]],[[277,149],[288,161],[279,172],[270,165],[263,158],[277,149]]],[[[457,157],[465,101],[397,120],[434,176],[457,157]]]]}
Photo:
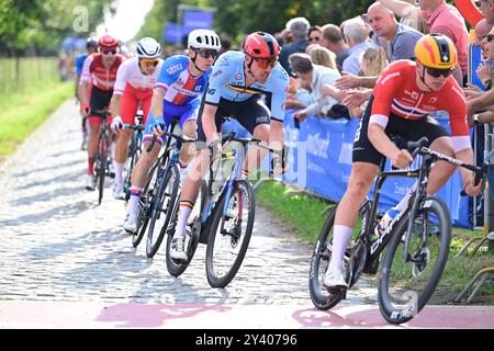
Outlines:
{"type": "Polygon", "coordinates": [[[394,167],[404,168],[414,161],[406,149],[401,150],[391,141],[381,124],[372,122],[372,116],[369,122],[368,137],[379,152],[391,159],[394,167]]]}

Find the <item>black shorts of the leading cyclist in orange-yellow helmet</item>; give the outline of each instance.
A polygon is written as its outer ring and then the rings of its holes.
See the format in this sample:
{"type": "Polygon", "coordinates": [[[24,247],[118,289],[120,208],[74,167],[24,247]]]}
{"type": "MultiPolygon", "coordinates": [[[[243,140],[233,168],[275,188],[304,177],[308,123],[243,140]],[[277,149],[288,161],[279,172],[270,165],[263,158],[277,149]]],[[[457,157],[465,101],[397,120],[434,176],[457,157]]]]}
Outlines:
{"type": "MultiPolygon", "coordinates": [[[[366,112],[360,120],[357,133],[355,134],[352,159],[353,162],[367,162],[379,166],[384,158],[384,155],[374,148],[367,135],[373,101],[374,98],[371,97],[366,112]]],[[[429,140],[429,145],[437,138],[450,136],[448,132],[430,116],[422,120],[406,120],[393,113],[390,114],[390,120],[384,132],[390,138],[398,137],[403,141],[416,141],[425,136],[429,140]]]]}

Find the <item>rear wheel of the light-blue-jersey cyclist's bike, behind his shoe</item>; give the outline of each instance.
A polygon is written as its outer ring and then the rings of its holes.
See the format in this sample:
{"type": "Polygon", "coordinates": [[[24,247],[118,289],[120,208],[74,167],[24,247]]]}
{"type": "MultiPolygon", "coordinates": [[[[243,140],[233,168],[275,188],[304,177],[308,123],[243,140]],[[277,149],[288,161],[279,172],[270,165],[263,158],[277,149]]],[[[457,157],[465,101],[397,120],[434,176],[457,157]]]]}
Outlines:
{"type": "MultiPolygon", "coordinates": [[[[195,208],[195,206],[199,206],[199,208],[200,208],[199,210],[199,215],[202,214],[202,210],[204,208],[206,191],[207,191],[207,189],[206,189],[205,181],[202,181],[201,182],[201,188],[200,188],[200,191],[199,191],[199,195],[198,195],[199,204],[198,203],[194,204],[194,208],[195,208]]],[[[173,216],[178,216],[178,212],[179,212],[179,207],[180,207],[180,202],[179,201],[175,204],[175,207],[176,208],[173,210],[172,217],[173,216]]],[[[192,216],[193,212],[194,212],[194,210],[192,210],[191,216],[192,216]]],[[[187,268],[189,267],[190,262],[192,261],[192,259],[194,257],[195,250],[198,249],[198,246],[199,246],[199,233],[194,233],[193,229],[191,231],[192,233],[190,233],[191,237],[190,237],[189,240],[192,240],[192,241],[191,241],[191,245],[190,245],[190,249],[187,252],[188,258],[187,258],[186,262],[176,261],[176,260],[173,260],[171,258],[171,256],[170,256],[171,240],[173,240],[173,233],[175,233],[175,230],[169,230],[168,231],[168,235],[167,235],[167,254],[166,254],[167,271],[168,271],[168,273],[170,273],[171,275],[173,275],[176,278],[180,276],[187,270],[187,268]]]]}

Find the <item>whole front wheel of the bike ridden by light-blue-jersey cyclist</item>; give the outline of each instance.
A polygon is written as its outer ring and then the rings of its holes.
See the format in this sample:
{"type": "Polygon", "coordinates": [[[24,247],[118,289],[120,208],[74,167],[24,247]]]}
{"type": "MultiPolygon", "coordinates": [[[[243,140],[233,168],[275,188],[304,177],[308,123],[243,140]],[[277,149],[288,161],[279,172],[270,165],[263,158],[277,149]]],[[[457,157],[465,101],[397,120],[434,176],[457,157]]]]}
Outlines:
{"type": "Polygon", "coordinates": [[[240,268],[252,234],[256,208],[252,185],[237,180],[229,196],[223,197],[217,206],[206,248],[206,275],[212,287],[225,287],[240,268]]]}

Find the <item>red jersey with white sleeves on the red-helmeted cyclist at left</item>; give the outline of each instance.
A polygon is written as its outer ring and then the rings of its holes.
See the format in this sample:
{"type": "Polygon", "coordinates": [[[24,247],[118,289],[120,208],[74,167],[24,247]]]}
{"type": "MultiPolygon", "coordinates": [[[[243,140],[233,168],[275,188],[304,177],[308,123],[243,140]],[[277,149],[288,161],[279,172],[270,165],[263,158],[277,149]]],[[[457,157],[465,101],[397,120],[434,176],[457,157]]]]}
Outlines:
{"type": "Polygon", "coordinates": [[[83,81],[91,81],[92,78],[92,82],[98,89],[112,90],[116,80],[116,71],[124,60],[124,56],[116,54],[112,66],[106,68],[103,65],[101,53],[89,55],[82,68],[81,83],[83,81]]]}

